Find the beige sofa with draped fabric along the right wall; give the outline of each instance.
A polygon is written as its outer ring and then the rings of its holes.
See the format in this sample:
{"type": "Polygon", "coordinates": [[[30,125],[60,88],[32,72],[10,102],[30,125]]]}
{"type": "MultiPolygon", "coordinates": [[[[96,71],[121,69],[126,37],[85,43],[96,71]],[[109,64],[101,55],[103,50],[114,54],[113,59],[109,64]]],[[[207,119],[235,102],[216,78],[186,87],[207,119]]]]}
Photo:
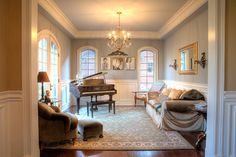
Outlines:
{"type": "Polygon", "coordinates": [[[204,131],[206,120],[203,114],[195,111],[195,107],[196,105],[205,106],[205,101],[181,100],[181,94],[186,91],[178,90],[178,92],[173,97],[173,92],[166,92],[166,89],[164,89],[162,93],[155,93],[155,95],[148,96],[147,113],[160,129],[204,131]]]}

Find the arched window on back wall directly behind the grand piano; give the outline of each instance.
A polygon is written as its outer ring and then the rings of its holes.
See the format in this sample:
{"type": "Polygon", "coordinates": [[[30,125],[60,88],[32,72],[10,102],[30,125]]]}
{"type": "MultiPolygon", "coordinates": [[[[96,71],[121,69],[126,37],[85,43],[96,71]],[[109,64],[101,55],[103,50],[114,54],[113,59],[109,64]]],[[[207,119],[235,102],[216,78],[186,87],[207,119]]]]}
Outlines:
{"type": "Polygon", "coordinates": [[[95,48],[80,48],[77,60],[80,77],[92,75],[97,72],[97,50],[95,48]]]}

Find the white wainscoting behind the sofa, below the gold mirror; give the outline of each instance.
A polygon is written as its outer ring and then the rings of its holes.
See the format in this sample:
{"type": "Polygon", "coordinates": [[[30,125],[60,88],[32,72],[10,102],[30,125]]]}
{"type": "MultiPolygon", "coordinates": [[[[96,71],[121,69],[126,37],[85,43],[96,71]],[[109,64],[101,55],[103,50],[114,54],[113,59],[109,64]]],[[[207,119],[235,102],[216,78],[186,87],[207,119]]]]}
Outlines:
{"type": "Polygon", "coordinates": [[[208,96],[208,86],[207,84],[193,83],[193,82],[180,82],[172,80],[164,80],[167,87],[176,88],[176,89],[196,89],[200,91],[205,98],[208,96]]]}

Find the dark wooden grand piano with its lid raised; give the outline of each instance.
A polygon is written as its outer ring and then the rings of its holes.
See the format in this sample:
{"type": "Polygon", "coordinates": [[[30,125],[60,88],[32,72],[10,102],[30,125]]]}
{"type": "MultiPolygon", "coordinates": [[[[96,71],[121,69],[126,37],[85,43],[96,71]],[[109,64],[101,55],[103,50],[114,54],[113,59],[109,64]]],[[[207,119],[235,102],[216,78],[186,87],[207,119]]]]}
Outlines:
{"type": "Polygon", "coordinates": [[[82,80],[73,80],[70,82],[70,92],[76,98],[77,114],[80,110],[80,98],[91,97],[91,100],[97,96],[108,95],[109,100],[117,93],[114,84],[106,84],[104,72],[99,72],[82,78],[82,80]],[[99,78],[99,77],[103,78],[99,78]]]}

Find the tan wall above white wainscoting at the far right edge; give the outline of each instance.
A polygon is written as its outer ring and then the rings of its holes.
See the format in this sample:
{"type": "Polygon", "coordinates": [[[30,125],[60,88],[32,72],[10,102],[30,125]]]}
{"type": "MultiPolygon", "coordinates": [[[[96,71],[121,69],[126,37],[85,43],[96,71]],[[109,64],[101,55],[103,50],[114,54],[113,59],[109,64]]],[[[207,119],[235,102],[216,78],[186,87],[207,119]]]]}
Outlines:
{"type": "Polygon", "coordinates": [[[236,91],[236,1],[226,0],[225,90],[236,91]]]}

